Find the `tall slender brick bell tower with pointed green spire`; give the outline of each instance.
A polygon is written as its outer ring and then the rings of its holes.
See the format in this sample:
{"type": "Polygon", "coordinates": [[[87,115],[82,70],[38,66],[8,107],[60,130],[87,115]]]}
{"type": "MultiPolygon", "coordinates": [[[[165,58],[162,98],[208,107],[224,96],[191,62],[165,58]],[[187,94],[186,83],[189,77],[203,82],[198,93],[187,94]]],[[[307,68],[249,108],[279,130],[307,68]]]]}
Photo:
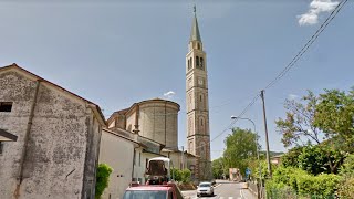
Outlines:
{"type": "Polygon", "coordinates": [[[210,180],[210,133],[207,54],[204,51],[196,6],[186,55],[187,151],[199,156],[198,180],[210,180]]]}

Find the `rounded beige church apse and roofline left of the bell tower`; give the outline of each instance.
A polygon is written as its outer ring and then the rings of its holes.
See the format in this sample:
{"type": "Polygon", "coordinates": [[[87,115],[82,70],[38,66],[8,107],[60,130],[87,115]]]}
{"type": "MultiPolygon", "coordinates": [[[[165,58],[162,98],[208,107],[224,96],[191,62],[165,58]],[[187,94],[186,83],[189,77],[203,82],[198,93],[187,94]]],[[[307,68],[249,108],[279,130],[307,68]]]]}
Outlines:
{"type": "Polygon", "coordinates": [[[108,128],[122,128],[165,145],[178,148],[179,105],[171,101],[154,98],[117,111],[107,121],[108,128]]]}

